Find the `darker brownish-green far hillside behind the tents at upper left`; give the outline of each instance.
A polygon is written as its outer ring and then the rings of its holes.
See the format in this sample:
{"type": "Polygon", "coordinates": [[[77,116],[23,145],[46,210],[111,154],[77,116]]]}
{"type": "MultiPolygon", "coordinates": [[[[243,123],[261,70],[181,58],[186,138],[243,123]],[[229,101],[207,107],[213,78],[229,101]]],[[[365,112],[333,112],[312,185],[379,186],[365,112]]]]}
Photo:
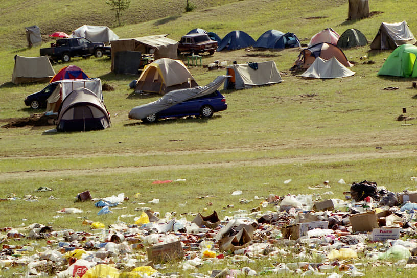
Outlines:
{"type": "MultiPolygon", "coordinates": [[[[190,0],[190,3],[195,5],[196,11],[201,11],[235,1],[190,0]]],[[[71,34],[82,25],[112,27],[117,23],[115,15],[105,3],[106,0],[4,0],[0,3],[0,49],[26,47],[25,27],[32,25],[40,27],[45,40],[56,31],[71,34]]],[[[180,17],[185,6],[185,0],[132,0],[129,9],[123,12],[121,22],[127,26],[168,16],[180,17]]]]}

